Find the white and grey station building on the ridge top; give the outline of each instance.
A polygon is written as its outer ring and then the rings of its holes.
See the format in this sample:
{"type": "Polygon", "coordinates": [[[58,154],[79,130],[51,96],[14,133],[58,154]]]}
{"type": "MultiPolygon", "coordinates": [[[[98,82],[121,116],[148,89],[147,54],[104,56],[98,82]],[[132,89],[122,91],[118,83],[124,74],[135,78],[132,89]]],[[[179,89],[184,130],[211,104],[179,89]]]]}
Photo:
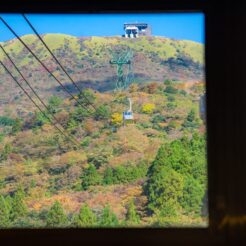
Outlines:
{"type": "Polygon", "coordinates": [[[125,38],[137,38],[139,36],[151,36],[151,27],[147,23],[125,23],[125,38]]]}

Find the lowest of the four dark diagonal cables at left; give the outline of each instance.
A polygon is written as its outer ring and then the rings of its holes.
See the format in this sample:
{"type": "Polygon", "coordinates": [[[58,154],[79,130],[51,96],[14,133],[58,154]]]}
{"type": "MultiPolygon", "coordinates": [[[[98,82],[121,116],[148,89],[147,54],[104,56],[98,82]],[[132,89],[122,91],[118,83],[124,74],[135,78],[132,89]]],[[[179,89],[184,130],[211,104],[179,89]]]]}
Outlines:
{"type": "Polygon", "coordinates": [[[32,97],[28,94],[28,92],[25,90],[25,88],[18,82],[18,80],[13,76],[13,74],[10,72],[10,70],[0,61],[0,64],[4,67],[4,69],[7,71],[7,73],[11,76],[11,78],[16,82],[16,84],[22,89],[22,91],[26,94],[26,96],[32,101],[32,103],[39,109],[39,111],[43,114],[44,117],[46,117],[50,123],[68,140],[70,140],[73,144],[77,145],[78,147],[79,144],[74,141],[71,137],[66,135],[59,127],[57,127],[52,120],[50,119],[49,116],[46,115],[46,113],[39,107],[39,105],[32,99],[32,97]]]}

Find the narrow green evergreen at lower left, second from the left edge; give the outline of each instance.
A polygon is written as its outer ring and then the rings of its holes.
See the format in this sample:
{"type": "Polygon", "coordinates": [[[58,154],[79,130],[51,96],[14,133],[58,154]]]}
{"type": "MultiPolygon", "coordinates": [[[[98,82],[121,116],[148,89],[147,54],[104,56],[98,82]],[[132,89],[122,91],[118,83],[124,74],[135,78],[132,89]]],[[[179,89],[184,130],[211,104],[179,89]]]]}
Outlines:
{"type": "Polygon", "coordinates": [[[27,214],[27,207],[24,202],[25,192],[22,187],[18,187],[11,203],[11,219],[14,221],[27,214]]]}

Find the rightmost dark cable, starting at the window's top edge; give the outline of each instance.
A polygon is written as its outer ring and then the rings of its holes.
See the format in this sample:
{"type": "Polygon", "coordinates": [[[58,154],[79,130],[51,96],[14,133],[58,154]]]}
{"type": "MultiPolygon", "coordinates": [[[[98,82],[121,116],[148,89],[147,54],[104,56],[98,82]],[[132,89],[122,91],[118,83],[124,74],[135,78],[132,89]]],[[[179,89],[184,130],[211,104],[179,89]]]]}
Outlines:
{"type": "Polygon", "coordinates": [[[48,45],[44,42],[44,40],[42,39],[42,37],[39,35],[39,33],[37,32],[37,30],[34,28],[34,26],[31,24],[31,22],[29,21],[29,19],[26,17],[25,14],[22,14],[23,18],[26,20],[27,24],[31,27],[31,29],[33,30],[33,32],[37,35],[37,37],[39,38],[39,40],[42,42],[42,44],[45,46],[45,48],[49,51],[49,53],[51,54],[51,56],[54,58],[54,60],[56,61],[56,63],[61,67],[62,71],[67,75],[67,77],[70,79],[70,81],[73,83],[73,85],[76,87],[76,89],[80,92],[80,94],[86,99],[86,101],[89,103],[89,105],[91,105],[95,110],[95,106],[90,102],[90,100],[86,97],[86,95],[83,93],[83,91],[78,87],[78,85],[75,83],[75,81],[72,79],[72,77],[69,75],[69,73],[66,71],[66,69],[63,67],[63,65],[59,62],[59,60],[56,58],[56,56],[54,55],[54,53],[50,50],[50,48],[48,47],[48,45]]]}

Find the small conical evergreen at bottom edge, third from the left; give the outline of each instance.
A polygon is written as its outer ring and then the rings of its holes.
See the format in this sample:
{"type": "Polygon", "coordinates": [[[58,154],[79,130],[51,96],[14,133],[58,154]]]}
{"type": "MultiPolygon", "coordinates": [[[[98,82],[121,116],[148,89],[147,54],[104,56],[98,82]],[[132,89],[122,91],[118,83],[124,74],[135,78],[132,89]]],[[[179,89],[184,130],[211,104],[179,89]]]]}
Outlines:
{"type": "Polygon", "coordinates": [[[55,201],[47,214],[46,220],[48,227],[64,227],[67,223],[65,214],[60,202],[55,201]]]}

